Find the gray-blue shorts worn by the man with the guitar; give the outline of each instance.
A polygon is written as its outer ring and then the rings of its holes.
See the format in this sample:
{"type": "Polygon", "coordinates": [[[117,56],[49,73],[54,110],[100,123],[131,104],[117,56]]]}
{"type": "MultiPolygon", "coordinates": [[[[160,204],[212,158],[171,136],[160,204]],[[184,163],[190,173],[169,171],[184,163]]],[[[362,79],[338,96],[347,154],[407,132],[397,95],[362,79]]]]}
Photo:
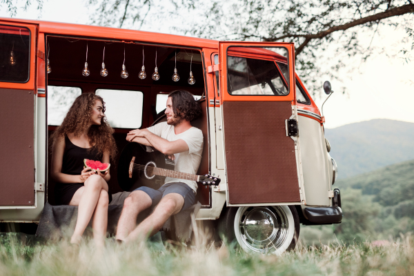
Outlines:
{"type": "Polygon", "coordinates": [[[141,190],[147,195],[149,195],[152,200],[152,206],[159,204],[159,201],[161,201],[163,197],[172,193],[179,194],[182,197],[184,197],[184,205],[183,208],[181,208],[181,210],[186,210],[187,208],[190,208],[196,203],[194,190],[190,188],[190,186],[188,186],[187,184],[181,182],[172,182],[164,184],[158,190],[154,190],[146,186],[139,187],[135,190],[141,190]]]}

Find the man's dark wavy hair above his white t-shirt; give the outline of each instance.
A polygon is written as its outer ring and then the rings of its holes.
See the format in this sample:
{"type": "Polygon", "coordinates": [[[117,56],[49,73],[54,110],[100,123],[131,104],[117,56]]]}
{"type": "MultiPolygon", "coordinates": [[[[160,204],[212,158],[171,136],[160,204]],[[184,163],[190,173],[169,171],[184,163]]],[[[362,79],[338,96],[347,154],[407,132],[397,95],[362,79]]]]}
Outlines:
{"type": "Polygon", "coordinates": [[[168,94],[172,100],[172,111],[177,117],[193,121],[201,114],[201,107],[195,101],[193,94],[186,90],[175,90],[168,94]]]}

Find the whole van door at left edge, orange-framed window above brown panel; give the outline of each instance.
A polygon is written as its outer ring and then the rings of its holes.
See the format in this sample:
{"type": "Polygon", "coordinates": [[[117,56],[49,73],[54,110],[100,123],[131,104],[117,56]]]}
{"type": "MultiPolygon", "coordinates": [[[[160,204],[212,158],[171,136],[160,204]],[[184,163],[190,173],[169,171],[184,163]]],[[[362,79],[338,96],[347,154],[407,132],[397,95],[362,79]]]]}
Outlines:
{"type": "Polygon", "coordinates": [[[37,30],[0,20],[0,209],[35,208],[37,30]]]}

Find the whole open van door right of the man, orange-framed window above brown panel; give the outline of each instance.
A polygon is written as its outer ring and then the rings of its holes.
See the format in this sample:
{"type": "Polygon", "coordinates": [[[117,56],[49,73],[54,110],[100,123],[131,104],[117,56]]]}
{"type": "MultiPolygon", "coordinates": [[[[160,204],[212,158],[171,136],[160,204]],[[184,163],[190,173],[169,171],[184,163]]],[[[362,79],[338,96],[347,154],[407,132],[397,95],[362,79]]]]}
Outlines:
{"type": "Polygon", "coordinates": [[[293,43],[219,42],[228,206],[305,201],[293,43]]]}

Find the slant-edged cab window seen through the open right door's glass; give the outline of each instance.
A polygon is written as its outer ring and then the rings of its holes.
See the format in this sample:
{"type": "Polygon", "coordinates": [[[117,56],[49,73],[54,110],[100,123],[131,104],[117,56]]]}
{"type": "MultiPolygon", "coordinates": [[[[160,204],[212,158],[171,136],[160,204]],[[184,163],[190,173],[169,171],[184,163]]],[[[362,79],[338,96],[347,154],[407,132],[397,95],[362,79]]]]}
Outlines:
{"type": "Polygon", "coordinates": [[[227,57],[230,95],[288,95],[274,61],[227,57]]]}

